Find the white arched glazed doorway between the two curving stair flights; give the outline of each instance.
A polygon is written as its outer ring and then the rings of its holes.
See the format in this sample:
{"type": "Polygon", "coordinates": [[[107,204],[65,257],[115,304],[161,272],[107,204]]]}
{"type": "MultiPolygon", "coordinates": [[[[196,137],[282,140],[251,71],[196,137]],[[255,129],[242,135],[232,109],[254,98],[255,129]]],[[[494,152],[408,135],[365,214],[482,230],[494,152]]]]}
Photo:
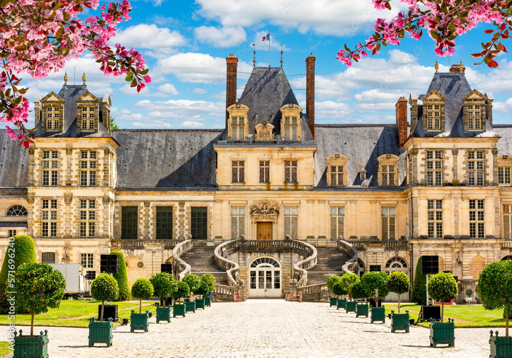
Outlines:
{"type": "Polygon", "coordinates": [[[257,257],[249,265],[249,297],[281,297],[281,264],[273,257],[257,257]]]}

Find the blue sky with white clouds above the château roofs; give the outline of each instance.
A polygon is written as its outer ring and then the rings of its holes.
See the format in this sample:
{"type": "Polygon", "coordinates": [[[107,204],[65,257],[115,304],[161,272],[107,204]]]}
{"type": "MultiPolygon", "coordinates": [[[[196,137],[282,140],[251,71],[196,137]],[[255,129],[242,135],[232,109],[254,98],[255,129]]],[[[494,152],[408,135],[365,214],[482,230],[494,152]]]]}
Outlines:
{"type": "MultiPolygon", "coordinates": [[[[220,128],[224,125],[226,64],[231,53],[239,57],[239,72],[252,70],[252,44],[257,66],[268,66],[271,32],[271,66],[280,66],[283,45],[284,71],[297,100],[305,108],[305,59],[316,56],[316,123],[394,123],[394,104],[410,92],[425,93],[434,74],[462,59],[466,78],[482,93],[495,97],[494,123],[511,123],[512,63],[508,54],[497,57],[499,67],[474,66],[471,53],[487,41],[478,28],[459,37],[455,54],[436,57],[434,43],[424,37],[403,39],[400,46],[383,47],[380,54],[354,63],[340,64],[336,52],[345,43],[351,48],[372,33],[377,17],[393,12],[376,11],[371,0],[135,0],[132,19],[122,23],[113,43],[134,47],[146,58],[151,85],[137,93],[123,78],[105,76],[89,55],[70,62],[48,78],[25,80],[30,101],[35,94],[60,89],[63,74],[68,84],[87,85],[95,95],[110,93],[112,113],[121,128],[220,128]]],[[[505,44],[506,46],[506,44],[505,44]]],[[[239,96],[248,73],[239,73],[239,96]]]]}

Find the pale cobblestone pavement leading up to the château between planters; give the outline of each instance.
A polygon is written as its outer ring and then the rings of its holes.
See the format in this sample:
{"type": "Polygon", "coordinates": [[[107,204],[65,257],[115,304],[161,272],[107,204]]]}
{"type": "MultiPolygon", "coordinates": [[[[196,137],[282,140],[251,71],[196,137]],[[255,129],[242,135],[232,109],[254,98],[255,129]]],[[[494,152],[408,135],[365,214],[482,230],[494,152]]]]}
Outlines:
{"type": "MultiPolygon", "coordinates": [[[[41,327],[34,330],[39,332],[41,327]]],[[[504,328],[498,330],[504,335],[504,328]]],[[[147,333],[130,333],[130,326],[116,327],[114,345],[109,348],[88,347],[87,328],[49,327],[48,352],[51,358],[472,358],[489,356],[489,331],[459,328],[455,330],[456,347],[431,348],[429,330],[423,327],[391,333],[389,320],[370,324],[369,318],[356,318],[327,303],[267,299],[213,303],[204,311],[171,319],[169,324],[156,324],[153,317],[147,333]]],[[[0,339],[6,340],[5,327],[0,339]]]]}

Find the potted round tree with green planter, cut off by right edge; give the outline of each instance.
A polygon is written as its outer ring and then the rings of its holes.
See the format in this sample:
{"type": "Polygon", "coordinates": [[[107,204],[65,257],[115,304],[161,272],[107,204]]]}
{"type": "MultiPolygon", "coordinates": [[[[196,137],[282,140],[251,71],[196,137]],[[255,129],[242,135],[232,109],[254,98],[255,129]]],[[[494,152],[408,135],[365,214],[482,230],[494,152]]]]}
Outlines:
{"type": "Polygon", "coordinates": [[[505,309],[505,336],[499,337],[498,331],[490,331],[490,357],[510,356],[512,337],[508,335],[508,320],[512,307],[512,261],[497,261],[484,267],[478,277],[478,293],[483,308],[487,310],[505,309]]]}

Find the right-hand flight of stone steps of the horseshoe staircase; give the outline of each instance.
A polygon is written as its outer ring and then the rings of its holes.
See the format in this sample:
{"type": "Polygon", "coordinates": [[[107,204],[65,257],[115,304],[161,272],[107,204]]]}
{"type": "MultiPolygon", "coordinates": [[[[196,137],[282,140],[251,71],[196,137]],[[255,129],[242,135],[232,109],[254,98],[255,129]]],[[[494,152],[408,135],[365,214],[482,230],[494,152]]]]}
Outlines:
{"type": "Polygon", "coordinates": [[[347,253],[336,248],[316,248],[315,267],[308,270],[308,286],[325,284],[331,275],[343,275],[343,265],[350,260],[347,253]]]}

